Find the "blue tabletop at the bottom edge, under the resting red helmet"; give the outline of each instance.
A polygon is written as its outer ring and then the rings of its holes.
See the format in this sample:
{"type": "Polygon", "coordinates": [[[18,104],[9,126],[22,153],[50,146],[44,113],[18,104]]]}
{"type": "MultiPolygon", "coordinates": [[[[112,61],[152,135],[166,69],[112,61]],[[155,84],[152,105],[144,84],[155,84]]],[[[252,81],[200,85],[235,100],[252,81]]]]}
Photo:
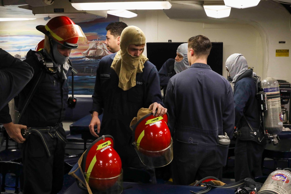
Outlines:
{"type": "MultiPolygon", "coordinates": [[[[176,193],[189,193],[190,191],[200,191],[205,187],[200,186],[182,186],[182,185],[165,185],[165,184],[140,184],[140,183],[129,183],[124,182],[123,188],[127,188],[123,190],[122,194],[137,194],[137,193],[167,193],[167,194],[176,194],[176,193]],[[129,188],[127,188],[129,187],[129,188]]],[[[86,194],[88,193],[86,190],[83,190],[78,187],[77,182],[72,184],[63,194],[86,194]]],[[[229,188],[212,188],[207,194],[234,194],[235,189],[229,188]]]]}

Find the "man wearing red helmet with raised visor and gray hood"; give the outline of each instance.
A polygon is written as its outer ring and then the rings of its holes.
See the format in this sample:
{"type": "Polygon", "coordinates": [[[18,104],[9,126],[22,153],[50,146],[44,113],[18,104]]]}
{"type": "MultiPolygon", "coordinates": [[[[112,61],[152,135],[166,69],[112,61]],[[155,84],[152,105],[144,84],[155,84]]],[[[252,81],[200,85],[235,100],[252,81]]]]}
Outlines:
{"type": "Polygon", "coordinates": [[[23,193],[50,194],[63,186],[66,135],[62,121],[68,99],[67,74],[72,70],[69,56],[71,49],[77,49],[78,43],[86,44],[87,39],[80,26],[66,16],[54,17],[36,29],[45,34],[44,49],[27,53],[24,61],[33,67],[34,74],[19,93],[22,115],[18,123],[31,127],[31,134],[23,138],[9,112],[4,126],[11,138],[23,143],[23,193]],[[31,100],[27,98],[30,95],[31,100]]]}

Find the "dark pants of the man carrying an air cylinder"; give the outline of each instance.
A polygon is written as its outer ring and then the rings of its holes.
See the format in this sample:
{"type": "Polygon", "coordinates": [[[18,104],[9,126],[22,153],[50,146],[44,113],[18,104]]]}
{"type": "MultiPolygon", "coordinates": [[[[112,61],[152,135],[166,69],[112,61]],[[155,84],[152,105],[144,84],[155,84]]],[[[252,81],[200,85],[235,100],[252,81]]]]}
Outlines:
{"type": "Polygon", "coordinates": [[[235,181],[262,176],[261,162],[265,145],[237,139],[235,142],[235,181]]]}

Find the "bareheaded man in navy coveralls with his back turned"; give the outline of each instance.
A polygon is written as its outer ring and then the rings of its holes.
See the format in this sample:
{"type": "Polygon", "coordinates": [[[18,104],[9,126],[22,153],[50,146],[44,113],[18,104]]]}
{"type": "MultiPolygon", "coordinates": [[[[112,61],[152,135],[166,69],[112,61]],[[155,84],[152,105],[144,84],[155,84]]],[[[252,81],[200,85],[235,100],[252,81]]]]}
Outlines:
{"type": "Polygon", "coordinates": [[[207,176],[221,178],[228,145],[218,136],[231,137],[234,129],[233,92],[229,82],[207,65],[211,42],[197,35],[188,40],[191,66],[173,76],[165,106],[173,136],[173,183],[189,185],[207,176]]]}

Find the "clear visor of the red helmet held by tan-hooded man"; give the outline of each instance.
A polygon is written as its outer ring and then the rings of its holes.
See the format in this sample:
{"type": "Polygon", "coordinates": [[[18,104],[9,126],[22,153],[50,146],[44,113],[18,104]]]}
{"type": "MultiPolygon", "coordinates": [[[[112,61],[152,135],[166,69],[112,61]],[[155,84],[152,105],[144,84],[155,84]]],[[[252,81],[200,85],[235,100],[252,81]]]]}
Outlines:
{"type": "Polygon", "coordinates": [[[160,151],[148,151],[139,146],[134,147],[141,162],[148,167],[162,167],[168,165],[173,160],[173,140],[170,145],[160,151]]]}

